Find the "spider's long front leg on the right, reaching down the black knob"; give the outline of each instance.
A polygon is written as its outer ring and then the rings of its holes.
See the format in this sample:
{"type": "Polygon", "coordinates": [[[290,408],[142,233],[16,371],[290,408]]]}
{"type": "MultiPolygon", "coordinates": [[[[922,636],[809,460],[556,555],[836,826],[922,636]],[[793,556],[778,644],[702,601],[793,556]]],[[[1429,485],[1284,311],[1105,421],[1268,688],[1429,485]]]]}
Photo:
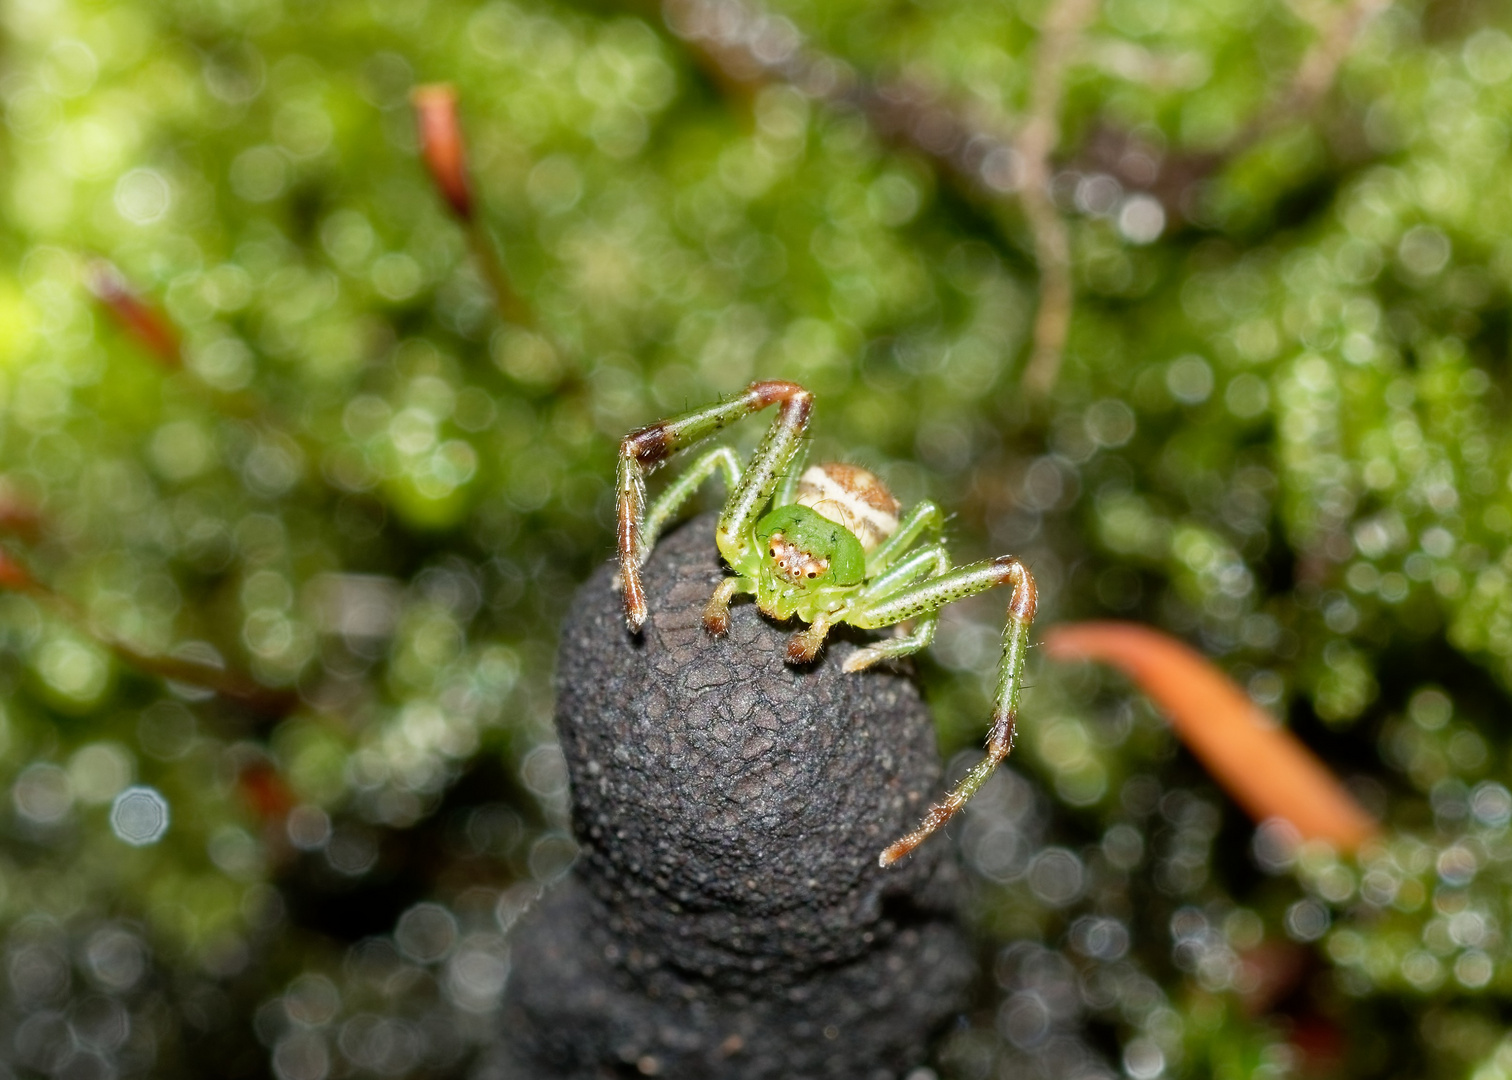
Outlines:
{"type": "Polygon", "coordinates": [[[1024,659],[1028,652],[1030,625],[1034,622],[1039,593],[1028,567],[1013,555],[1002,555],[963,566],[937,578],[928,578],[891,596],[857,604],[847,616],[847,622],[856,626],[891,626],[906,619],[937,613],[947,604],[984,593],[996,585],[1012,585],[1013,594],[1009,597],[1009,622],[1002,628],[1002,659],[998,664],[992,728],[987,731],[987,756],[972,767],[943,800],[930,806],[918,829],[883,850],[877,859],[883,867],[901,859],[925,836],[950,821],[1013,749],[1019,694],[1024,688],[1024,659]]]}

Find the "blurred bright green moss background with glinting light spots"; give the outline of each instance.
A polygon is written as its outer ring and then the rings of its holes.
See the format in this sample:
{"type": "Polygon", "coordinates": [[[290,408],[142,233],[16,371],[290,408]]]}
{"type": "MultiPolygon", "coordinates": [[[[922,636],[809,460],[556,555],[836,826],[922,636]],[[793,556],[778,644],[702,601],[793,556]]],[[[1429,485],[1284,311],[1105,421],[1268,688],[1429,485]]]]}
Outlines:
{"type": "MultiPolygon", "coordinates": [[[[0,1074],[466,1075],[575,850],[615,442],[792,378],[820,457],[1045,623],[1199,644],[1390,833],[1256,832],[1037,663],[954,830],[992,977],[910,1080],[1512,1075],[1512,18],[1081,3],[1036,393],[1075,3],[0,3],[0,1074]]],[[[921,663],[947,752],[999,631],[921,663]]]]}

